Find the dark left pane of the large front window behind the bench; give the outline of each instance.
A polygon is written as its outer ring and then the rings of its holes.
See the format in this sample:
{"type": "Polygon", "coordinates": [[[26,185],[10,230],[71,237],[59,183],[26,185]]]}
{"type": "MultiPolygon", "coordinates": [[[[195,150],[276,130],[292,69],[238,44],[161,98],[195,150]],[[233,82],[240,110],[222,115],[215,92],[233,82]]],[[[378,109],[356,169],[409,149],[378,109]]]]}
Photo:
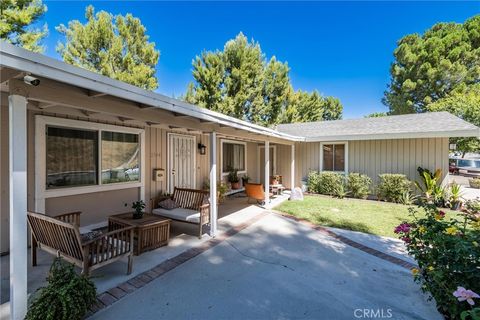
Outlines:
{"type": "Polygon", "coordinates": [[[47,189],[98,183],[98,132],[47,126],[47,189]]]}

